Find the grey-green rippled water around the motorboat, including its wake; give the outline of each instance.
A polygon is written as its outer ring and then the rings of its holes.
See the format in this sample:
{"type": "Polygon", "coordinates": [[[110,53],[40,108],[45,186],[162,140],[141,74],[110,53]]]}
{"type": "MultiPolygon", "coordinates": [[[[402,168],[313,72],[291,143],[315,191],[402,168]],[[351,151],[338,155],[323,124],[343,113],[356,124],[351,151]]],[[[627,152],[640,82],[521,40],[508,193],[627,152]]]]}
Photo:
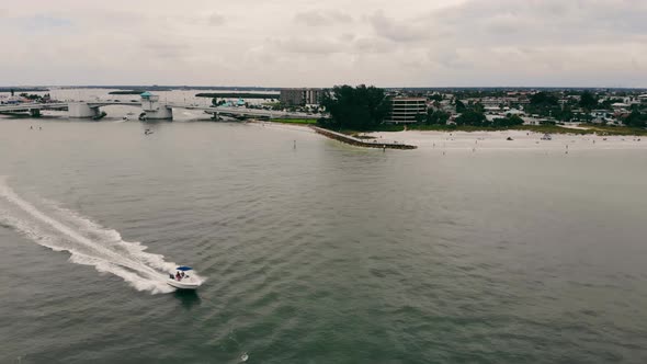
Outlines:
{"type": "Polygon", "coordinates": [[[116,120],[0,118],[1,363],[647,361],[644,151],[116,120]]]}

